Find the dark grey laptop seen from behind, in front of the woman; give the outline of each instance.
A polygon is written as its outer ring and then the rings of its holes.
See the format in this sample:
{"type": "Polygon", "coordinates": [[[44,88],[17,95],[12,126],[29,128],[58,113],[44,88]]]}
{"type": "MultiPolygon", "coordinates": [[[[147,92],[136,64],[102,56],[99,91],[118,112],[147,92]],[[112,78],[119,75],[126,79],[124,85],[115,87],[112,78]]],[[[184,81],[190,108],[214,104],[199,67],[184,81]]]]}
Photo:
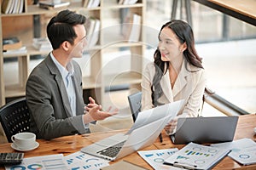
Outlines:
{"type": "Polygon", "coordinates": [[[173,144],[219,143],[234,139],[238,116],[187,117],[177,119],[173,144]]]}

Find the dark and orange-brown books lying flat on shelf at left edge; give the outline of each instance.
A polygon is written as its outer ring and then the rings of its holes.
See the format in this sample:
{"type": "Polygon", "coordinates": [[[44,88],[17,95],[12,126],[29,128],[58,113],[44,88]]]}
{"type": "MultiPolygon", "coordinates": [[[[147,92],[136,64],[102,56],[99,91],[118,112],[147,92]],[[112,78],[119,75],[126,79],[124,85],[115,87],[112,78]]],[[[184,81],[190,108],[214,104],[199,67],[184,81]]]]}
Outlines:
{"type": "Polygon", "coordinates": [[[3,51],[10,49],[19,49],[22,47],[22,42],[18,37],[7,37],[3,38],[3,51]]]}

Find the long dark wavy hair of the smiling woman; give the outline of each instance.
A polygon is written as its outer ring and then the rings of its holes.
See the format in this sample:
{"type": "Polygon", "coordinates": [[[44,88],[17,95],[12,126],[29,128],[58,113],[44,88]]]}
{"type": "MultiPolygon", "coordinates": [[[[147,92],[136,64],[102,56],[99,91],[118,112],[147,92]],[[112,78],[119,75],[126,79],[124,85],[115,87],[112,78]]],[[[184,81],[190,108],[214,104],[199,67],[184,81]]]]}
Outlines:
{"type": "MultiPolygon", "coordinates": [[[[178,41],[183,44],[186,42],[187,48],[183,51],[184,61],[189,63],[190,65],[194,65],[198,68],[203,68],[201,65],[201,58],[198,56],[195,50],[195,39],[192,28],[188,23],[183,20],[172,20],[163,25],[160,29],[160,32],[165,28],[169,27],[177,36],[178,41]]],[[[159,33],[160,37],[160,33],[159,33]]],[[[154,52],[154,67],[155,67],[155,75],[153,78],[151,91],[152,91],[152,104],[154,106],[161,105],[158,102],[158,99],[163,94],[163,90],[160,86],[160,79],[163,75],[166,74],[166,71],[169,67],[169,61],[162,61],[161,54],[159,48],[157,48],[154,52]]],[[[186,65],[186,69],[188,69],[188,65],[186,65]]]]}

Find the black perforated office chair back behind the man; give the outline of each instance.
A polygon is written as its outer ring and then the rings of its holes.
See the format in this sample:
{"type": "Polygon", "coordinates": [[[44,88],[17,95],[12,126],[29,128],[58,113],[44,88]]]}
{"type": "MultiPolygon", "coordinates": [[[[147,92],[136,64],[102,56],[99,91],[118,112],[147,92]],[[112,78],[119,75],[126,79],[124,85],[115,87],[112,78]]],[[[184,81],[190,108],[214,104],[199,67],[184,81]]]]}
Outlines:
{"type": "Polygon", "coordinates": [[[26,105],[26,98],[15,99],[3,105],[0,108],[0,122],[9,143],[12,142],[12,135],[29,132],[30,114],[26,105]]]}

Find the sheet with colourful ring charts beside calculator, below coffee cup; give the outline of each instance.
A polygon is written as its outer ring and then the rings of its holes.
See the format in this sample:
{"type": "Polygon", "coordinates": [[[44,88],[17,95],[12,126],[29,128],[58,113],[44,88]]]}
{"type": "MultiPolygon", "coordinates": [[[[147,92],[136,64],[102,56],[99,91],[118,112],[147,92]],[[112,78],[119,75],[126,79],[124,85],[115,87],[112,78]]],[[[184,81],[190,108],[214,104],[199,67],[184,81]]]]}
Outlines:
{"type": "Polygon", "coordinates": [[[67,169],[67,164],[64,161],[64,156],[62,154],[57,154],[24,158],[19,165],[5,166],[5,169],[67,169]]]}

